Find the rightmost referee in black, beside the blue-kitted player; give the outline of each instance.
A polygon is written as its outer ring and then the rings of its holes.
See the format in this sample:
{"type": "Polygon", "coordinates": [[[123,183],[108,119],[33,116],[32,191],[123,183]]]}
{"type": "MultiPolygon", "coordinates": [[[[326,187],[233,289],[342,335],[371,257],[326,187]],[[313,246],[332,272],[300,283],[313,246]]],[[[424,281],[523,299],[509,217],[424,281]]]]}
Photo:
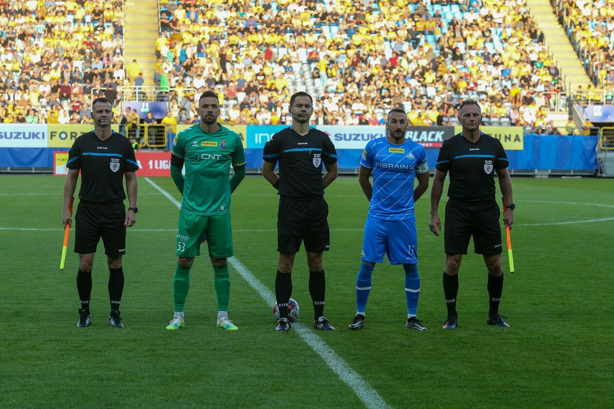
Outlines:
{"type": "Polygon", "coordinates": [[[501,227],[499,204],[495,199],[494,172],[507,211],[503,224],[514,223],[514,208],[508,159],[499,139],[480,131],[482,120],[480,105],[474,99],[465,99],[459,108],[462,132],[441,145],[435,163],[435,178],[430,191],[430,231],[439,236],[441,221],[437,208],[443,192],[443,182],[450,173],[448,204],[446,204],[445,253],[443,292],[448,307],[448,319],[443,329],[456,329],[456,294],[459,289],[458,272],[462,255],[467,254],[469,239],[473,235],[475,253],[482,254],[488,269],[489,311],[486,322],[497,327],[510,327],[499,315],[499,302],[503,291],[501,266],[501,227]]]}

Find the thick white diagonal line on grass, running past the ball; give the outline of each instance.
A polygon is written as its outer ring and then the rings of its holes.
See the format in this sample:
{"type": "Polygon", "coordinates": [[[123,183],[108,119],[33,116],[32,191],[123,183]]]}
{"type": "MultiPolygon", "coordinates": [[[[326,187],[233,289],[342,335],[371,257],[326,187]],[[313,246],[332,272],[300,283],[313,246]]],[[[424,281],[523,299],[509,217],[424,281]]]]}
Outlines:
{"type": "MultiPolygon", "coordinates": [[[[178,202],[173,196],[171,196],[164,189],[160,188],[160,186],[156,185],[150,178],[146,177],[145,180],[152,185],[154,188],[158,189],[161,194],[166,196],[169,201],[173,202],[174,205],[181,208],[181,203],[178,202]]],[[[263,285],[260,280],[254,277],[254,275],[247,269],[247,267],[243,266],[241,262],[236,257],[228,258],[228,262],[231,266],[235,268],[244,278],[249,285],[254,288],[260,297],[268,305],[275,304],[275,296],[273,292],[271,292],[265,285],[263,285]]],[[[313,333],[305,324],[303,323],[294,323],[292,327],[297,331],[297,334],[305,340],[307,345],[311,346],[311,349],[316,351],[316,353],[324,359],[324,362],[330,367],[330,369],[335,372],[342,381],[344,381],[362,400],[362,403],[367,408],[388,408],[389,406],[384,402],[383,399],[379,396],[378,392],[373,389],[373,387],[363,378],[354,371],[346,361],[342,357],[340,357],[335,351],[330,348],[330,346],[326,345],[322,338],[318,337],[313,333]]],[[[271,329],[271,331],[273,331],[271,329]]]]}

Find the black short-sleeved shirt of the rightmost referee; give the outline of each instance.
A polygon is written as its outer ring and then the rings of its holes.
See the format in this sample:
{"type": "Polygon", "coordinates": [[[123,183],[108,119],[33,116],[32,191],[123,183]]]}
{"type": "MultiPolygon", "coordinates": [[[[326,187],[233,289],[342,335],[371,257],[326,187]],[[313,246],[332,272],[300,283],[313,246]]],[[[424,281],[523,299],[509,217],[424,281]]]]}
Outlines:
{"type": "Polygon", "coordinates": [[[443,142],[435,168],[449,172],[448,196],[466,201],[487,201],[495,197],[494,169],[508,167],[499,139],[481,133],[473,143],[460,134],[443,142]]]}

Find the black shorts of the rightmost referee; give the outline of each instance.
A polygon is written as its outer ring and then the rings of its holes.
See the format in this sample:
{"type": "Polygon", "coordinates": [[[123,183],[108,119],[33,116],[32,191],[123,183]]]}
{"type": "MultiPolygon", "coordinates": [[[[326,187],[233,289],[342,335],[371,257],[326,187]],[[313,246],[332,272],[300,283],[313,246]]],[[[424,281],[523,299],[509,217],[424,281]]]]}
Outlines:
{"type": "Polygon", "coordinates": [[[446,204],[446,254],[467,254],[469,239],[477,254],[499,254],[502,251],[499,205],[492,201],[468,202],[450,197],[446,204]]]}

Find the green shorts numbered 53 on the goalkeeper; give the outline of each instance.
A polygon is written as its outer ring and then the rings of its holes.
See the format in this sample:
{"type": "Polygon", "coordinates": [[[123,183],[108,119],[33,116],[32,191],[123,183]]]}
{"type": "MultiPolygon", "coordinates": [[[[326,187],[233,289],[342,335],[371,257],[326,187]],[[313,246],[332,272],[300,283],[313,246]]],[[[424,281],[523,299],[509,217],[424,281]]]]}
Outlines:
{"type": "Polygon", "coordinates": [[[233,256],[230,215],[190,215],[179,212],[177,228],[177,256],[200,256],[200,244],[206,235],[209,256],[228,258],[233,256]]]}

